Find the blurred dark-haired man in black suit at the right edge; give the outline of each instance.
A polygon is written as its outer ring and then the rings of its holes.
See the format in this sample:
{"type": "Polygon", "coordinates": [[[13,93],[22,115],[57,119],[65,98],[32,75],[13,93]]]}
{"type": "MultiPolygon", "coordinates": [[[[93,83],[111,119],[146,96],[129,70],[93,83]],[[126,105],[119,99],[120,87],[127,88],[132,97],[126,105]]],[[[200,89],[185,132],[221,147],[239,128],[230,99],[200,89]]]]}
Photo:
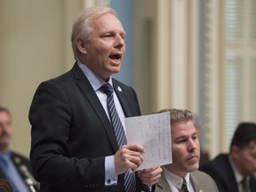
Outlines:
{"type": "Polygon", "coordinates": [[[239,124],[229,154],[220,154],[200,170],[212,176],[220,192],[256,191],[256,124],[239,124]]]}

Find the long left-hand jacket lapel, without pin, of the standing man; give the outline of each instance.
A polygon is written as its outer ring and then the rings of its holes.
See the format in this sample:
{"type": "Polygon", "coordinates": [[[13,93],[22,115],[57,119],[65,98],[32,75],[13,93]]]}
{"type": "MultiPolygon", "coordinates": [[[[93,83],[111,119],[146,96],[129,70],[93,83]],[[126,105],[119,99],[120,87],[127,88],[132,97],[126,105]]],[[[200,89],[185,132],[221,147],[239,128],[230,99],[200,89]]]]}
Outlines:
{"type": "Polygon", "coordinates": [[[91,103],[91,106],[94,112],[100,119],[101,124],[103,125],[106,134],[108,135],[108,140],[111,143],[112,148],[114,151],[118,150],[115,132],[113,130],[112,125],[108,120],[108,116],[104,108],[102,107],[100,100],[97,94],[94,92],[92,85],[88,81],[87,77],[84,75],[83,71],[75,64],[74,68],[72,68],[73,74],[76,78],[76,84],[80,88],[80,90],[84,93],[84,96],[91,103]]]}

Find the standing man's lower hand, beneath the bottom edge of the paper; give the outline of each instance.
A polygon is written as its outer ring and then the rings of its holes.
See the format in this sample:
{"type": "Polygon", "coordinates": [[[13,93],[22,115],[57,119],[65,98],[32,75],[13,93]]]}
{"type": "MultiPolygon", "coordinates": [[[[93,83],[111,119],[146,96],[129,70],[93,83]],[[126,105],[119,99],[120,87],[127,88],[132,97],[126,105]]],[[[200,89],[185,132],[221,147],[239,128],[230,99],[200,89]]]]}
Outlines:
{"type": "Polygon", "coordinates": [[[144,185],[155,185],[163,172],[161,167],[144,169],[138,172],[141,182],[144,185]]]}

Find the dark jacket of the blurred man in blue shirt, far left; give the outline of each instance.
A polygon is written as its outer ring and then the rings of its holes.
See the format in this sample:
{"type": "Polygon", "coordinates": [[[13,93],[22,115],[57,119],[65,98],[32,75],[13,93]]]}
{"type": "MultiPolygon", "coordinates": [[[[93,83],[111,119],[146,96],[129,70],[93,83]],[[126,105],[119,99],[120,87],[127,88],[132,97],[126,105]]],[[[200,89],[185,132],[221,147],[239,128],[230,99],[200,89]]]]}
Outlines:
{"type": "MultiPolygon", "coordinates": [[[[22,172],[20,170],[20,166],[21,165],[26,166],[28,169],[28,172],[30,172],[32,174],[31,165],[30,165],[28,158],[26,158],[25,156],[21,156],[20,154],[14,152],[14,151],[11,151],[11,159],[12,159],[12,162],[15,165],[17,171],[20,173],[20,177],[23,180],[26,180],[28,177],[24,174],[24,172],[22,172]]],[[[6,180],[4,172],[1,169],[0,169],[0,179],[6,180]]]]}

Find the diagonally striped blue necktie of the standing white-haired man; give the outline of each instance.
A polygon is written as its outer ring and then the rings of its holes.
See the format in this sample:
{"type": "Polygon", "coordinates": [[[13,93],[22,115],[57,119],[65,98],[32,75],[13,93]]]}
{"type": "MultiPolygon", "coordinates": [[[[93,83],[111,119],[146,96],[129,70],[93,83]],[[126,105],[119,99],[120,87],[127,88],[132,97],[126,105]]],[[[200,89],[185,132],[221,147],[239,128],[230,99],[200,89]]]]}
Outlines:
{"type": "MultiPolygon", "coordinates": [[[[100,87],[101,91],[108,96],[108,113],[111,120],[111,123],[116,134],[116,141],[119,148],[127,144],[124,127],[121,123],[121,120],[117,114],[115,103],[114,103],[114,94],[113,88],[110,84],[103,84],[100,87]]],[[[135,192],[136,191],[136,181],[134,172],[126,171],[124,172],[124,191],[125,192],[135,192]]]]}

